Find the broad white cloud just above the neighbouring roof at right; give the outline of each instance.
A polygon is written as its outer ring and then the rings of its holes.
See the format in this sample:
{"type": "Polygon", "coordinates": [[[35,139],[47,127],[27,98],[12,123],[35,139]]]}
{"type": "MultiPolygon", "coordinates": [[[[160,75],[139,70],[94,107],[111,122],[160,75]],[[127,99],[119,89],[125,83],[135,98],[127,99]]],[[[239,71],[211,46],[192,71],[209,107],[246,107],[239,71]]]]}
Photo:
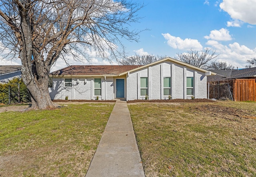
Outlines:
{"type": "Polygon", "coordinates": [[[212,46],[216,53],[219,54],[216,58],[217,61],[227,62],[238,68],[244,68],[247,60],[256,57],[256,48],[250,49],[237,42],[225,46],[218,41],[209,40],[206,44],[212,46]]]}

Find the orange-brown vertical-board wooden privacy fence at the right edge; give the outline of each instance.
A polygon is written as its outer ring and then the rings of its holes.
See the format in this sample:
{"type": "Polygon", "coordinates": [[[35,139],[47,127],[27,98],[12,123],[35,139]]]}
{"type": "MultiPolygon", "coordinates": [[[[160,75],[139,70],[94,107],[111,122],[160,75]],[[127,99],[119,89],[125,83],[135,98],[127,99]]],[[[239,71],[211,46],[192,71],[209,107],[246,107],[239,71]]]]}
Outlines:
{"type": "Polygon", "coordinates": [[[255,79],[234,79],[234,101],[256,101],[255,79]]]}

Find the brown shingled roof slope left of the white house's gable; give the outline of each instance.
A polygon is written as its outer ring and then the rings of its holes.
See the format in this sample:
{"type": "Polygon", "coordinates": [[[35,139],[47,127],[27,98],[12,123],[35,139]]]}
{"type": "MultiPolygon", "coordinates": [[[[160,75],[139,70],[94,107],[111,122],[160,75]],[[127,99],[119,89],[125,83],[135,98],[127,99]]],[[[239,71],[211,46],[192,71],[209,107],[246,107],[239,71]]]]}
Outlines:
{"type": "Polygon", "coordinates": [[[140,65],[75,65],[54,71],[52,75],[118,75],[140,65]]]}

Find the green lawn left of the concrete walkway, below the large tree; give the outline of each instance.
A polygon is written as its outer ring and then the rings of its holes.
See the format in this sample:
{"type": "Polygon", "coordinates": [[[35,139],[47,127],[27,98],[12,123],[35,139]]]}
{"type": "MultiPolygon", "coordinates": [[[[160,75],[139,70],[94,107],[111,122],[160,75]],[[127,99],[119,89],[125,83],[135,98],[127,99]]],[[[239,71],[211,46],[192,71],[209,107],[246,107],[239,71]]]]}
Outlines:
{"type": "Polygon", "coordinates": [[[0,175],[84,176],[113,106],[0,113],[0,175]]]}

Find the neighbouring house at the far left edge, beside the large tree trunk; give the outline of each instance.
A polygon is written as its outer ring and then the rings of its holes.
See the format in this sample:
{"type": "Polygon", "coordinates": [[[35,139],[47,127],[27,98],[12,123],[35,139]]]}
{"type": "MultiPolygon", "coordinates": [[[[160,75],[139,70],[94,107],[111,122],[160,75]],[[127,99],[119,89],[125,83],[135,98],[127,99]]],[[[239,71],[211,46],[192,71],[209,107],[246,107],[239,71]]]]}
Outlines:
{"type": "Polygon", "coordinates": [[[0,83],[7,83],[15,77],[21,78],[20,65],[0,66],[0,83]]]}

